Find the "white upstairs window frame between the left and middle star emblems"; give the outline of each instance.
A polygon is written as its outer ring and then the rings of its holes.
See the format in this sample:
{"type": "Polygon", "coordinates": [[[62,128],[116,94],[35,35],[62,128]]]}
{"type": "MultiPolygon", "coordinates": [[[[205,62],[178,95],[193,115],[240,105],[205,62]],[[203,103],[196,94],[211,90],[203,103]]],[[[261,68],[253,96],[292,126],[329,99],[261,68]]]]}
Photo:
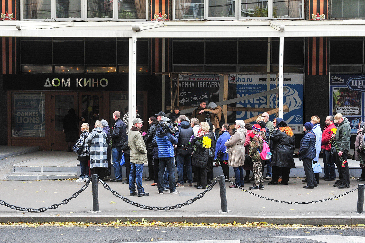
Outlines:
{"type": "MultiPolygon", "coordinates": [[[[25,0],[20,0],[20,19],[21,20],[30,20],[37,21],[41,19],[24,19],[23,15],[23,4],[25,0]]],[[[56,18],[56,1],[51,0],[51,19],[47,19],[47,21],[74,21],[74,20],[87,20],[87,21],[101,21],[101,20],[114,20],[114,21],[141,21],[148,20],[148,8],[149,1],[146,0],[146,18],[143,19],[118,19],[118,1],[113,1],[113,17],[111,18],[88,18],[87,17],[87,8],[88,8],[88,0],[81,0],[81,17],[80,18],[56,18]]]]}

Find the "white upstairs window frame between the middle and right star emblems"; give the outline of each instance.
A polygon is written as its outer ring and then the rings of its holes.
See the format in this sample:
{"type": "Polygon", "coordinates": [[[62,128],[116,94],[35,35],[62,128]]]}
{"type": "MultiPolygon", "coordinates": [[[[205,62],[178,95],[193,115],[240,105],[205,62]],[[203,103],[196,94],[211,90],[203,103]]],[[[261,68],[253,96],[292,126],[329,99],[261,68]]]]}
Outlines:
{"type": "Polygon", "coordinates": [[[301,0],[302,2],[302,17],[291,17],[291,18],[274,18],[273,17],[273,0],[268,0],[268,16],[267,17],[241,17],[241,6],[242,6],[242,0],[236,0],[235,1],[235,16],[234,17],[209,17],[209,0],[204,0],[204,16],[202,19],[177,19],[175,18],[175,3],[176,0],[173,0],[173,6],[172,6],[172,15],[173,20],[260,20],[260,19],[304,19],[305,15],[305,1],[301,0]]]}

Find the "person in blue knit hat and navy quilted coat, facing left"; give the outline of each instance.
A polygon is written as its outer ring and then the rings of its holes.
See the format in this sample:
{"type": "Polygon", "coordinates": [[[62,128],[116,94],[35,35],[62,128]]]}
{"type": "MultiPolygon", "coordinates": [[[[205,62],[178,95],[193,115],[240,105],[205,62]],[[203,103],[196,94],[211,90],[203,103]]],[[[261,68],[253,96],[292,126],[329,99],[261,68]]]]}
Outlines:
{"type": "Polygon", "coordinates": [[[300,141],[298,151],[299,160],[303,160],[304,173],[307,177],[307,185],[303,187],[306,189],[313,189],[318,185],[312,169],[312,161],[316,157],[316,136],[312,128],[312,123],[306,122],[304,124],[304,136],[300,141]]]}

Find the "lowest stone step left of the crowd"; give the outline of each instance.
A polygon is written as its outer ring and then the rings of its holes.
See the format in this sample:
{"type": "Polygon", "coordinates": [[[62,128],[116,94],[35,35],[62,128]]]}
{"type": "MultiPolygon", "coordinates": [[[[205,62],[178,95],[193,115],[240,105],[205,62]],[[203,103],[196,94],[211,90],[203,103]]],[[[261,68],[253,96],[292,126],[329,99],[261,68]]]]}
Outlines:
{"type": "Polygon", "coordinates": [[[76,177],[76,172],[13,172],[8,175],[8,181],[59,180],[76,177]]]}

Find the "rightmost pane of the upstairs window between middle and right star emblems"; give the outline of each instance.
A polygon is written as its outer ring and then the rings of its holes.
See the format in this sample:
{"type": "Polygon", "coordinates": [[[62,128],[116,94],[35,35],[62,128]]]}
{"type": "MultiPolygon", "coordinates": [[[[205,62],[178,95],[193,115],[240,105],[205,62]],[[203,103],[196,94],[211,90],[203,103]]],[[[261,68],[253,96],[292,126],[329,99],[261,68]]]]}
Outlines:
{"type": "Polygon", "coordinates": [[[303,17],[303,0],[273,0],[274,18],[303,17]]]}

